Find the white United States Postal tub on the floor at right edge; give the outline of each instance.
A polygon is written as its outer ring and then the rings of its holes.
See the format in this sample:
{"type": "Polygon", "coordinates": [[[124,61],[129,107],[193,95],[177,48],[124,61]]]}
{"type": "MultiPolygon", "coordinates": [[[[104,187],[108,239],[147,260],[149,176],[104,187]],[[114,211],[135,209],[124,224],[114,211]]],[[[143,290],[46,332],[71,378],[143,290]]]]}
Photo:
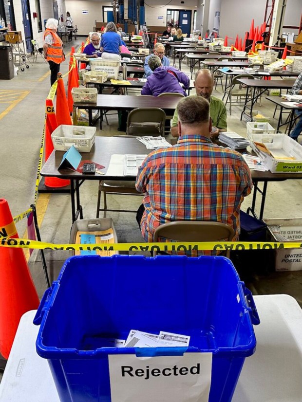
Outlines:
{"type": "MultiPolygon", "coordinates": [[[[271,241],[302,242],[302,218],[264,219],[271,241]],[[272,226],[273,225],[273,226],[272,226]],[[276,226],[279,227],[278,234],[276,226]],[[280,235],[284,237],[280,238],[280,235]]],[[[276,271],[302,271],[302,248],[275,250],[276,271]]]]}

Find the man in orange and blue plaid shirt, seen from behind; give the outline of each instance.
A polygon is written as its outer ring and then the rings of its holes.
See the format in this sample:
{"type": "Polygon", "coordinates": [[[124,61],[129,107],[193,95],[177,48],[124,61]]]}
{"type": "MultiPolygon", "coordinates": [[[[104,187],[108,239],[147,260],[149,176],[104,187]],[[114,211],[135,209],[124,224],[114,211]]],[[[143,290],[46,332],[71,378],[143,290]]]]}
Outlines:
{"type": "Polygon", "coordinates": [[[239,211],[250,194],[250,170],[240,153],[213,144],[209,102],[188,96],[177,105],[178,143],[152,151],[138,170],[136,189],[145,193],[136,219],[143,237],[174,220],[223,222],[240,232],[239,211]]]}

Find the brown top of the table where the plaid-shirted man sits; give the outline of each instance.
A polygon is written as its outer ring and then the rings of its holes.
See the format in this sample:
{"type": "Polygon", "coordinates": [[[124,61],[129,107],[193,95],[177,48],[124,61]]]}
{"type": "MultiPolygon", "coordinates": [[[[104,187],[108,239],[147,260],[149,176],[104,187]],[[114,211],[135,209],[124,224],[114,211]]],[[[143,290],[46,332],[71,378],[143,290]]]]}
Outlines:
{"type": "MultiPolygon", "coordinates": [[[[83,175],[74,170],[64,169],[58,171],[64,151],[53,151],[41,169],[42,176],[59,177],[61,179],[76,180],[135,180],[135,176],[106,176],[111,155],[113,154],[148,154],[151,149],[147,149],[135,138],[123,137],[95,137],[94,146],[90,152],[81,152],[83,160],[90,160],[97,164],[104,165],[102,171],[104,176],[99,174],[83,175]]],[[[251,170],[252,179],[255,181],[283,181],[287,179],[302,179],[300,173],[271,173],[270,171],[260,172],[251,170]]]]}

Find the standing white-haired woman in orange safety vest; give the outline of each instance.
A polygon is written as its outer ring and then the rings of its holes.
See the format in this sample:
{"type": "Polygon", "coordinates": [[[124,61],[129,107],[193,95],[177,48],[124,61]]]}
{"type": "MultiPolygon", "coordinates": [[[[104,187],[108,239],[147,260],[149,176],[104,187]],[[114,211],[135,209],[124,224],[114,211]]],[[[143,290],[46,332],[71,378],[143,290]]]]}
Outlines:
{"type": "Polygon", "coordinates": [[[50,85],[52,86],[57,80],[57,73],[60,71],[60,64],[65,60],[63,52],[63,42],[57,35],[58,20],[48,18],[46,22],[46,30],[44,32],[43,51],[44,57],[48,61],[50,67],[50,85]]]}

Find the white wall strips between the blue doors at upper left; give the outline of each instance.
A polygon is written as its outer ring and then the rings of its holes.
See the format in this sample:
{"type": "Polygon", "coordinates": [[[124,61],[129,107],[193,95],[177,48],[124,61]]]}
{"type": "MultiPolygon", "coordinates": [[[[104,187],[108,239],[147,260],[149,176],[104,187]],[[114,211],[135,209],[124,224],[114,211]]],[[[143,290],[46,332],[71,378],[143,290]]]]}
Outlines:
{"type": "MultiPolygon", "coordinates": [[[[53,11],[53,2],[52,0],[40,0],[40,9],[41,9],[41,19],[42,19],[42,32],[38,32],[38,22],[37,18],[33,18],[33,13],[38,12],[36,10],[36,1],[30,0],[30,15],[32,21],[32,30],[33,30],[33,39],[36,39],[40,46],[43,44],[43,32],[44,32],[44,19],[54,18],[53,11]]],[[[65,9],[65,0],[57,0],[57,8],[58,15],[60,17],[61,14],[66,16],[65,9]]],[[[16,29],[17,31],[22,32],[22,38],[24,39],[24,27],[23,27],[23,17],[22,17],[22,9],[21,9],[21,1],[14,1],[14,12],[15,12],[15,20],[16,20],[16,29]]]]}

